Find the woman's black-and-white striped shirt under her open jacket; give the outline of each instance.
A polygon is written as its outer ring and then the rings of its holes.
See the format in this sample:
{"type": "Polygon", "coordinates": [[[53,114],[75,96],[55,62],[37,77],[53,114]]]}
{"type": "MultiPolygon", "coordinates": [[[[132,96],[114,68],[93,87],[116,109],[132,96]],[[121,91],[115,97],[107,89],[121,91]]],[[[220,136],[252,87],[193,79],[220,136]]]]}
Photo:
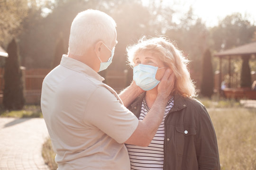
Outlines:
{"type": "MultiPolygon", "coordinates": [[[[131,170],[163,170],[164,168],[164,141],[165,141],[165,117],[174,105],[173,98],[165,108],[165,115],[158,127],[154,138],[147,147],[126,144],[131,170]]],[[[142,102],[139,120],[142,121],[147,112],[146,101],[142,102]]]]}

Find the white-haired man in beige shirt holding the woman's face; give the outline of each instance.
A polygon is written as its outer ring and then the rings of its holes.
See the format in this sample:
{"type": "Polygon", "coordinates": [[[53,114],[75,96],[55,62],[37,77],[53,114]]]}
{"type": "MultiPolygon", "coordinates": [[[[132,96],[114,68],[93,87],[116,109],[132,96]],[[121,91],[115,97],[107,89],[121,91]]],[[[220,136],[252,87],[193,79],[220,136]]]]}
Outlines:
{"type": "Polygon", "coordinates": [[[170,70],[143,121],[126,108],[142,89],[132,83],[119,96],[102,83],[97,72],[111,63],[115,27],[115,21],[101,11],[79,13],[71,26],[68,55],[44,79],[41,108],[58,170],[130,170],[124,143],[147,146],[163,119],[166,89],[173,88],[170,70]]]}

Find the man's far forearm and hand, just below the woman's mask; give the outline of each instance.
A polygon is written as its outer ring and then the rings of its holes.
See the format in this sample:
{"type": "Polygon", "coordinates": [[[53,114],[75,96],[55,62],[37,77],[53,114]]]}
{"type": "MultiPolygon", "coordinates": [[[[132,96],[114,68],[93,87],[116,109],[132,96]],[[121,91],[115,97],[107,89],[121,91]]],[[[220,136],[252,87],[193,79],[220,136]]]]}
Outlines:
{"type": "Polygon", "coordinates": [[[125,88],[121,93],[119,93],[119,97],[124,103],[124,106],[128,107],[131,102],[133,102],[136,97],[143,92],[144,90],[137,86],[135,81],[133,81],[130,86],[125,88]]]}

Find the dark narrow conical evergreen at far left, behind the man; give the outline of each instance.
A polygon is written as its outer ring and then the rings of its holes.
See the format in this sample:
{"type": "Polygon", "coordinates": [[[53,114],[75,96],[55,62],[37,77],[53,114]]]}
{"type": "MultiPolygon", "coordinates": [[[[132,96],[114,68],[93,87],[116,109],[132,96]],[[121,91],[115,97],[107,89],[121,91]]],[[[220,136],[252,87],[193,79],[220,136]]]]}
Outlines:
{"type": "Polygon", "coordinates": [[[8,110],[22,109],[25,103],[23,96],[22,72],[19,66],[18,46],[13,39],[7,48],[9,57],[5,63],[3,105],[8,110]]]}

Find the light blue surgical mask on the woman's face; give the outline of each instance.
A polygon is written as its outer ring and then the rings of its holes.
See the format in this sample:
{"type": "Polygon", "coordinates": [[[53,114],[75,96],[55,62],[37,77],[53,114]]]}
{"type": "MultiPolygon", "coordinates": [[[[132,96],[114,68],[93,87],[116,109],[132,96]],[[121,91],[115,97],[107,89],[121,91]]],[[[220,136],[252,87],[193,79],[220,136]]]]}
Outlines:
{"type": "Polygon", "coordinates": [[[155,88],[156,85],[160,82],[155,79],[155,74],[158,67],[139,64],[133,68],[133,79],[142,90],[148,91],[155,88]]]}

